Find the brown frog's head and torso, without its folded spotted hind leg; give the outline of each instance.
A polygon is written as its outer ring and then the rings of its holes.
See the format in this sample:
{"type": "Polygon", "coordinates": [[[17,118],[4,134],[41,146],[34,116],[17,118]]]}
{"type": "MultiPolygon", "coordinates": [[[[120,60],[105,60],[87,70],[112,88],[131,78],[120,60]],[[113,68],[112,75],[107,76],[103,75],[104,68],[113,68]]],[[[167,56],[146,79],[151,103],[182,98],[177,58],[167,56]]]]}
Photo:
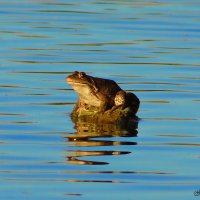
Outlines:
{"type": "Polygon", "coordinates": [[[66,82],[78,93],[78,102],[73,113],[82,111],[104,113],[115,105],[115,96],[122,91],[113,80],[93,77],[79,71],[69,75],[66,82]]]}

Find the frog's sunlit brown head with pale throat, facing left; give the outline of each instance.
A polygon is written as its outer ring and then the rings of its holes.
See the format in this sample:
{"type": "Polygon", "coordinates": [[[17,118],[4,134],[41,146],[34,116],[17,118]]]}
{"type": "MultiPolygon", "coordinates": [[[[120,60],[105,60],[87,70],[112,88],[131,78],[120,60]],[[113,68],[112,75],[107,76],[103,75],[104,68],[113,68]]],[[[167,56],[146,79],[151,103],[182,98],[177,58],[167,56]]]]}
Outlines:
{"type": "Polygon", "coordinates": [[[75,71],[66,78],[66,81],[79,94],[87,94],[91,89],[95,89],[93,77],[85,72],[75,71]]]}

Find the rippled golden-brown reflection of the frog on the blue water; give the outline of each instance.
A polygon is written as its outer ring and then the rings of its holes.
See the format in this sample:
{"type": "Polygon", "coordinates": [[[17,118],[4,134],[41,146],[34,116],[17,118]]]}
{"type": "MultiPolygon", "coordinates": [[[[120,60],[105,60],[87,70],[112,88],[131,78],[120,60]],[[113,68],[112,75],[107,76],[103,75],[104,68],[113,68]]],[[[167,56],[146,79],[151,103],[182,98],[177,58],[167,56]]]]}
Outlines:
{"type": "Polygon", "coordinates": [[[68,142],[72,143],[74,147],[77,147],[66,151],[67,162],[80,165],[109,164],[109,162],[87,160],[87,157],[92,156],[92,159],[95,159],[97,156],[131,153],[131,151],[110,150],[112,149],[110,147],[108,148],[109,150],[106,150],[106,146],[136,145],[137,143],[133,142],[129,137],[137,136],[137,128],[138,122],[132,122],[128,126],[119,126],[76,121],[76,132],[65,137],[68,139],[68,142]],[[105,146],[104,150],[99,148],[100,146],[105,146]],[[92,147],[92,150],[90,147],[92,147]],[[94,147],[97,148],[94,150],[94,147]]]}

